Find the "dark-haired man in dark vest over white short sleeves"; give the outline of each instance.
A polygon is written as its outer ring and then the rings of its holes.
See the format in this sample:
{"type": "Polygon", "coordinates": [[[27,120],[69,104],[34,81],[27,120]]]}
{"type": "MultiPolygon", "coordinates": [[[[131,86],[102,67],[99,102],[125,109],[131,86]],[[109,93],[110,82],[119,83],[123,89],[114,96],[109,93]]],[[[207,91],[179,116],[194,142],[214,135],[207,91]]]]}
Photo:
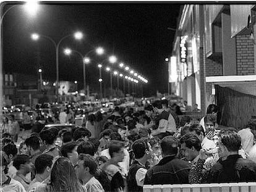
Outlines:
{"type": "Polygon", "coordinates": [[[152,149],[146,139],[139,139],[132,144],[135,161],[129,169],[127,184],[128,191],[143,191],[143,183],[147,173],[146,163],[151,159],[152,149]]]}

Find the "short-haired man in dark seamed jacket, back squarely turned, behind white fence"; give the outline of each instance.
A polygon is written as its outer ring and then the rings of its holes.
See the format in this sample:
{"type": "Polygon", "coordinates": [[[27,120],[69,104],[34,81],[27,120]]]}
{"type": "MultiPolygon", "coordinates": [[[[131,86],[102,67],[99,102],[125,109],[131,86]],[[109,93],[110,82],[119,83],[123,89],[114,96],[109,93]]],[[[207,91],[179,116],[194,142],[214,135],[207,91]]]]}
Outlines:
{"type": "Polygon", "coordinates": [[[189,162],[178,159],[178,143],[174,136],[166,136],[160,146],[163,159],[146,173],[144,185],[189,183],[189,162]]]}

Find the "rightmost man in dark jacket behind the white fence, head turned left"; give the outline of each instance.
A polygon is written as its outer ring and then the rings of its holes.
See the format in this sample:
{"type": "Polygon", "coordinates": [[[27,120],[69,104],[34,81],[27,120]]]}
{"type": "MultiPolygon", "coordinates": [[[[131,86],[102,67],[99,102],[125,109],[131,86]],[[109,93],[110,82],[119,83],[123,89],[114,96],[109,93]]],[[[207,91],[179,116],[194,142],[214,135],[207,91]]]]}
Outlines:
{"type": "Polygon", "coordinates": [[[241,137],[235,131],[223,131],[217,146],[220,160],[211,167],[208,183],[256,182],[256,164],[238,154],[241,137]]]}

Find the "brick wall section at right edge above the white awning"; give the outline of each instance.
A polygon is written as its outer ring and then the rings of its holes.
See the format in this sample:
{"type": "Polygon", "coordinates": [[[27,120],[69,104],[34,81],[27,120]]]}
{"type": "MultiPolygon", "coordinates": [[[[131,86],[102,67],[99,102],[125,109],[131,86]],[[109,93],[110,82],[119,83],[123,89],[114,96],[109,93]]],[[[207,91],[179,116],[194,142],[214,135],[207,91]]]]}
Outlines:
{"type": "Polygon", "coordinates": [[[254,44],[250,35],[236,36],[237,75],[254,75],[254,44]]]}

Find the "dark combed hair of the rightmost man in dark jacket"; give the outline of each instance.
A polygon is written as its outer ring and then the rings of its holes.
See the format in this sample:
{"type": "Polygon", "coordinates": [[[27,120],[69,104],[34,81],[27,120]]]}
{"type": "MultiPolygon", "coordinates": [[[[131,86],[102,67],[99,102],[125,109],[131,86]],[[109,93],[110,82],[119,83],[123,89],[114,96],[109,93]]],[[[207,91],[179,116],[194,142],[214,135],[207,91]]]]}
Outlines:
{"type": "Polygon", "coordinates": [[[238,152],[241,148],[241,136],[239,136],[236,131],[221,131],[220,141],[226,146],[228,151],[238,152]]]}

